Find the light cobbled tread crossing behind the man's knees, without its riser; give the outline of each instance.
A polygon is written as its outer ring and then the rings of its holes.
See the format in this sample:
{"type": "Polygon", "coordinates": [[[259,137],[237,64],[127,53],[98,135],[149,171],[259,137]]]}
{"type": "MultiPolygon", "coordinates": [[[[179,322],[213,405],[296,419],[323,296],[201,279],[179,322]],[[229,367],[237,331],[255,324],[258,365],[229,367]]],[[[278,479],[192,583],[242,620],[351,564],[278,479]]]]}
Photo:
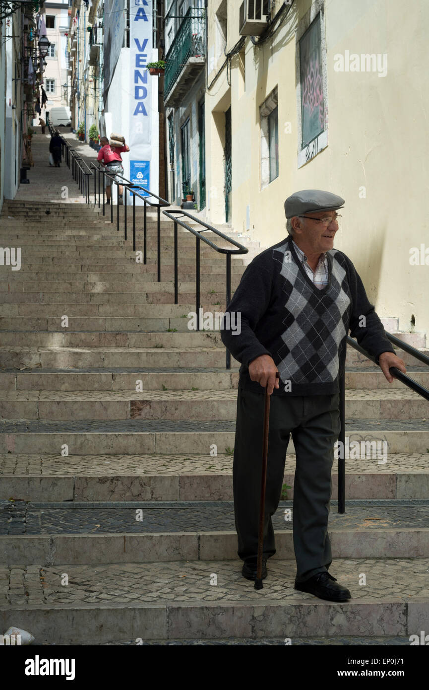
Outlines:
{"type": "MultiPolygon", "coordinates": [[[[120,476],[120,475],[232,475],[233,455],[30,455],[1,453],[0,475],[120,476]]],[[[429,453],[389,453],[386,464],[377,458],[346,458],[346,474],[428,473],[429,453]]],[[[337,471],[337,461],[333,467],[337,471]]],[[[285,472],[295,472],[295,455],[286,455],[285,472]]]]}

